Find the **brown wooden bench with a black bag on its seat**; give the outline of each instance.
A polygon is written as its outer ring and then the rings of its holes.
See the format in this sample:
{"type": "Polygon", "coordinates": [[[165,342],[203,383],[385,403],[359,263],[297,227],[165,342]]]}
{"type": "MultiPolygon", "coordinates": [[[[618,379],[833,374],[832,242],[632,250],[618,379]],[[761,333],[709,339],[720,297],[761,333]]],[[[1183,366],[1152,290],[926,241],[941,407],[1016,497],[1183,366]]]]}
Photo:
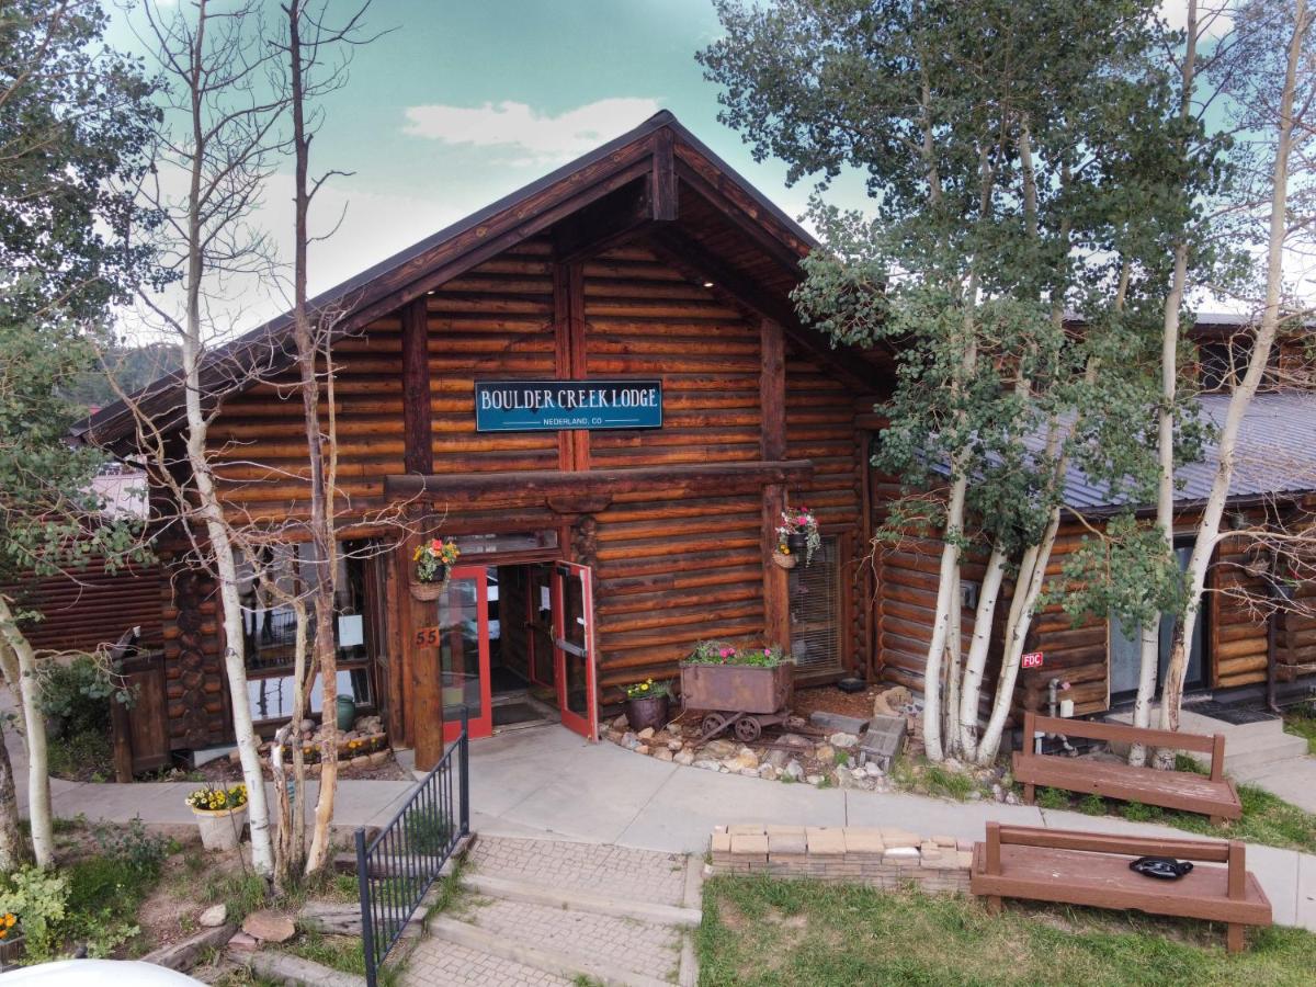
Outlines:
{"type": "Polygon", "coordinates": [[[988,822],[987,841],[974,844],[969,882],[992,911],[1000,909],[1003,898],[1024,898],[1227,923],[1225,945],[1237,953],[1245,925],[1271,921],[1270,899],[1248,873],[1246,850],[1237,840],[1165,840],[988,822]],[[1225,866],[1199,865],[1178,880],[1129,870],[1130,859],[1149,855],[1225,866]]]}

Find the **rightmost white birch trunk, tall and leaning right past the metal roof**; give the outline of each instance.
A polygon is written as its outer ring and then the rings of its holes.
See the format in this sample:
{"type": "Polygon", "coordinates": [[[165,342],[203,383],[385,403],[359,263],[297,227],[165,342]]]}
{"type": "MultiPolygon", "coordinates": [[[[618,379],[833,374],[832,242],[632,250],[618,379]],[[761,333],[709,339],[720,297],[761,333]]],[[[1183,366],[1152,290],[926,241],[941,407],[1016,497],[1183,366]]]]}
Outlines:
{"type": "MultiPolygon", "coordinates": [[[[1179,729],[1179,711],[1183,704],[1183,682],[1188,671],[1188,649],[1196,629],[1202,594],[1207,586],[1207,570],[1216,544],[1220,541],[1220,521],[1224,517],[1229,486],[1233,480],[1234,455],[1238,446],[1238,429],[1248,412],[1257,387],[1266,372],[1270,350],[1279,329],[1279,301],[1283,287],[1284,213],[1288,207],[1288,157],[1292,149],[1294,129],[1294,89],[1298,75],[1298,62],[1303,53],[1303,38],[1307,33],[1307,0],[1298,0],[1294,12],[1294,33],[1288,43],[1288,61],[1284,71],[1284,86],[1279,99],[1278,139],[1275,143],[1275,164],[1270,200],[1270,233],[1266,246],[1266,305],[1261,325],[1253,342],[1248,361],[1248,372],[1234,388],[1225,413],[1225,424],[1220,432],[1219,463],[1211,484],[1211,495],[1198,524],[1198,538],[1188,561],[1188,609],[1174,629],[1170,649],[1170,667],[1166,670],[1165,691],[1161,700],[1161,729],[1179,729]]],[[[1163,761],[1163,759],[1162,759],[1163,761]]]]}

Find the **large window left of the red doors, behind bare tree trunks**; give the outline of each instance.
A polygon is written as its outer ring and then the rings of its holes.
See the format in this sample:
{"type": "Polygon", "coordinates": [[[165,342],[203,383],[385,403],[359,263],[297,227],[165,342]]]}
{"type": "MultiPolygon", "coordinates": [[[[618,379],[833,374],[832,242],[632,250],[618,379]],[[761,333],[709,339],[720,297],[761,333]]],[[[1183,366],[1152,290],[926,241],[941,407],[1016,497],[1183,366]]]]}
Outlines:
{"type": "MultiPolygon", "coordinates": [[[[368,550],[367,542],[340,542],[334,580],[334,642],[338,655],[336,690],[340,695],[353,696],[357,705],[374,705],[363,558],[368,550]]],[[[261,550],[257,565],[237,554],[249,676],[247,699],[251,715],[258,721],[284,720],[292,715],[297,621],[290,597],[300,595],[307,601],[307,634],[315,634],[315,615],[311,600],[305,596],[305,571],[315,546],[309,542],[275,545],[261,550]]],[[[311,712],[318,713],[318,675],[312,680],[307,699],[311,712]]]]}

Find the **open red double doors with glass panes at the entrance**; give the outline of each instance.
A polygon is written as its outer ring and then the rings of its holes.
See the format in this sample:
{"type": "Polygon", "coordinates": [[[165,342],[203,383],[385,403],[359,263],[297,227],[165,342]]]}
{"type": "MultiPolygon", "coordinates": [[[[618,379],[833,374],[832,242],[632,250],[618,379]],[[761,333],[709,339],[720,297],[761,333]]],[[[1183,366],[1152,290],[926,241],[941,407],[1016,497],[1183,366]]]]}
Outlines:
{"type": "MultiPolygon", "coordinates": [[[[553,563],[553,684],[562,724],[597,740],[594,594],[588,566],[553,563]]],[[[490,692],[490,567],[458,566],[437,601],[443,741],[457,738],[465,704],[471,737],[494,732],[490,692]]]]}

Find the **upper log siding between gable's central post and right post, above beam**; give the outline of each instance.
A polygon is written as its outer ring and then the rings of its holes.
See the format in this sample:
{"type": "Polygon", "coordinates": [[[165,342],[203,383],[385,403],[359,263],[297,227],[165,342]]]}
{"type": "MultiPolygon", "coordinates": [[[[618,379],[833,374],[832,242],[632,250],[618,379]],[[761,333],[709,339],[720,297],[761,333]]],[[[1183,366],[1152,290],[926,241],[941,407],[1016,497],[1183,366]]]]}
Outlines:
{"type": "Polygon", "coordinates": [[[663,425],[590,433],[595,468],[759,458],[758,324],[641,247],[584,265],[586,368],[658,378],[663,425]]]}

